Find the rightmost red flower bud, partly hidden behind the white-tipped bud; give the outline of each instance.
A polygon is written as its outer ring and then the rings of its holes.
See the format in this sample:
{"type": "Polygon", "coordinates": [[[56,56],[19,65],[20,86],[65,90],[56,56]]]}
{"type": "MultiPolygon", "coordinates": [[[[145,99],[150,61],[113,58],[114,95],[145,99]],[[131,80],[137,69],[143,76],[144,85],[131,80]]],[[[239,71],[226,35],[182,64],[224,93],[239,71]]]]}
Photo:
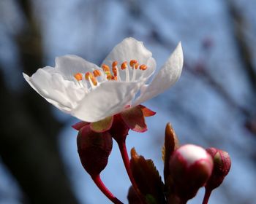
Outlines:
{"type": "Polygon", "coordinates": [[[206,188],[213,190],[219,187],[225,176],[227,176],[230,170],[231,160],[229,154],[220,149],[211,147],[206,149],[206,151],[211,154],[214,160],[214,170],[206,183],[206,188]]]}

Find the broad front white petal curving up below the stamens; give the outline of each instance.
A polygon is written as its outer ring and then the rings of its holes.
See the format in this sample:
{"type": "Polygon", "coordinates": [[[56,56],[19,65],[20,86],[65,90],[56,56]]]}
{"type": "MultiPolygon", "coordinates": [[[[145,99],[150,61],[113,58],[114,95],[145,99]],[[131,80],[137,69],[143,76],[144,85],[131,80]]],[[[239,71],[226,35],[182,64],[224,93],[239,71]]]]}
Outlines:
{"type": "Polygon", "coordinates": [[[104,82],[86,95],[72,115],[86,122],[97,122],[122,111],[138,93],[140,82],[104,82]]]}

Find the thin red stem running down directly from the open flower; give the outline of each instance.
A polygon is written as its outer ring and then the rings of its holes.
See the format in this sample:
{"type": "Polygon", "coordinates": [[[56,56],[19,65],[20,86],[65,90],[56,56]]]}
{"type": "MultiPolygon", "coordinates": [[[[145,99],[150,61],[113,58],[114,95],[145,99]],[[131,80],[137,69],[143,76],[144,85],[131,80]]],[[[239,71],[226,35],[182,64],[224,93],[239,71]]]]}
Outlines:
{"type": "Polygon", "coordinates": [[[135,189],[135,192],[138,195],[138,197],[140,199],[140,202],[141,203],[145,203],[144,199],[143,199],[143,196],[141,195],[140,190],[138,189],[138,186],[137,186],[137,184],[135,182],[135,179],[132,176],[132,170],[131,170],[131,168],[129,166],[129,156],[128,156],[128,153],[127,153],[127,146],[125,144],[125,139],[121,140],[121,141],[117,141],[117,144],[118,144],[119,150],[121,152],[121,157],[123,159],[125,169],[127,170],[127,174],[129,176],[129,180],[132,183],[132,187],[135,189]]]}

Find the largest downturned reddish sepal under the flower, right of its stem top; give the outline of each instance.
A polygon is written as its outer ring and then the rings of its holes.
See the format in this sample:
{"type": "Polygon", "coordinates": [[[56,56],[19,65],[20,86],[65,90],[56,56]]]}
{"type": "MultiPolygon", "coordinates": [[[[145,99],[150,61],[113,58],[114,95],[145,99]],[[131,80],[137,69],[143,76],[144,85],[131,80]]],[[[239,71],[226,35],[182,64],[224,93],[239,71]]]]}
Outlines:
{"type": "Polygon", "coordinates": [[[130,129],[136,132],[143,133],[147,130],[143,111],[139,106],[122,111],[121,118],[130,129]]]}

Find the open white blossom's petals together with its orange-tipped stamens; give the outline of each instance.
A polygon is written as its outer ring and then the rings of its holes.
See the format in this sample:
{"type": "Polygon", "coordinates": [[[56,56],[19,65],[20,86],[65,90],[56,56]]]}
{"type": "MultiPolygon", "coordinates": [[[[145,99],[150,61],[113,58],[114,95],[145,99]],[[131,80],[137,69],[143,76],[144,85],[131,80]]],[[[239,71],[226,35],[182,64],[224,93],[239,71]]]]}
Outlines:
{"type": "Polygon", "coordinates": [[[97,122],[153,98],[177,81],[183,66],[181,43],[151,84],[146,85],[156,68],[151,56],[142,42],[127,38],[113,48],[102,68],[76,55],[65,55],[56,58],[54,68],[46,66],[31,77],[23,76],[61,111],[86,122],[97,122]],[[135,98],[139,91],[140,96],[135,98]]]}

